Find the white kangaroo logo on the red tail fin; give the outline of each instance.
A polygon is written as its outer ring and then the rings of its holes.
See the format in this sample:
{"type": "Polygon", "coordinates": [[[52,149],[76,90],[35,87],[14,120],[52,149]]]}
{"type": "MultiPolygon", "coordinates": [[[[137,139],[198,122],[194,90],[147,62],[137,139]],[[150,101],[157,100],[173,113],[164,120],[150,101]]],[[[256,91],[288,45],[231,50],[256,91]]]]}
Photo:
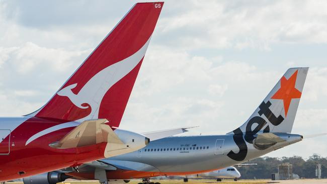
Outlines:
{"type": "Polygon", "coordinates": [[[88,109],[91,107],[91,113],[77,121],[97,119],[101,101],[107,91],[125,75],[127,75],[141,61],[150,42],[149,40],[133,55],[112,64],[96,75],[94,75],[78,92],[72,93],[71,89],[77,86],[77,83],[68,85],[57,92],[57,95],[68,97],[68,99],[78,108],[88,109]],[[88,104],[89,106],[82,106],[88,104]]]}

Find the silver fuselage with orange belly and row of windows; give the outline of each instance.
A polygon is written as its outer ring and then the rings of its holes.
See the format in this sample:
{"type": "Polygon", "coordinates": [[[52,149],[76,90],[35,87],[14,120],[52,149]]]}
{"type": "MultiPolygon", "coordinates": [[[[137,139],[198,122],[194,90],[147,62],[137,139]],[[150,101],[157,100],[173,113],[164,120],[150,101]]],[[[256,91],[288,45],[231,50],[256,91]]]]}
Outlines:
{"type": "MultiPolygon", "coordinates": [[[[239,147],[234,135],[186,136],[169,137],[150,142],[146,147],[131,153],[103,159],[103,162],[115,165],[118,170],[107,171],[108,179],[146,178],[159,175],[184,175],[221,169],[239,164],[273,150],[282,148],[302,140],[301,135],[274,133],[285,141],[276,143],[264,150],[259,150],[253,144],[246,143],[246,157],[235,160],[239,147]],[[229,156],[228,156],[229,155],[229,156]]],[[[244,137],[242,137],[244,139],[244,137]]],[[[237,158],[236,158],[237,159],[237,158]]],[[[86,171],[87,172],[87,171],[86,171]]],[[[76,178],[90,178],[87,174],[69,173],[76,178]]]]}

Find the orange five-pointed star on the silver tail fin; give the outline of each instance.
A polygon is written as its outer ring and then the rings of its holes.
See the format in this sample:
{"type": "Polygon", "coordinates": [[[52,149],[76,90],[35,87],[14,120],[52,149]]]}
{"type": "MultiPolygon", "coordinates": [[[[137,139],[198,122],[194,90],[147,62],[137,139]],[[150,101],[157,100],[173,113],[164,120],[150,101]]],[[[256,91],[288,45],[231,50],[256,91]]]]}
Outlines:
{"type": "Polygon", "coordinates": [[[281,79],[280,88],[272,97],[272,99],[283,100],[285,116],[287,116],[287,112],[291,104],[291,100],[301,98],[302,93],[295,88],[296,76],[297,76],[297,70],[288,79],[286,79],[283,76],[281,79]]]}

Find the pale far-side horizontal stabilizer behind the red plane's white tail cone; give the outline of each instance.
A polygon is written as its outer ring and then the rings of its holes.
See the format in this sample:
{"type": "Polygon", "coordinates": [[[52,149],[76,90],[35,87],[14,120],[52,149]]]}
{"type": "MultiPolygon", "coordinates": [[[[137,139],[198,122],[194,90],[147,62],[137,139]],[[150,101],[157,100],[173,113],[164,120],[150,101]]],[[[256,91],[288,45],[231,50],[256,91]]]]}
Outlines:
{"type": "Polygon", "coordinates": [[[173,135],[188,132],[187,129],[195,128],[195,127],[198,127],[198,126],[174,128],[174,129],[167,129],[167,130],[159,130],[159,131],[153,131],[153,132],[145,132],[145,133],[142,133],[142,134],[145,135],[146,137],[150,138],[150,141],[154,141],[154,140],[162,139],[162,138],[165,138],[165,137],[170,137],[170,136],[173,136],[173,135]]]}

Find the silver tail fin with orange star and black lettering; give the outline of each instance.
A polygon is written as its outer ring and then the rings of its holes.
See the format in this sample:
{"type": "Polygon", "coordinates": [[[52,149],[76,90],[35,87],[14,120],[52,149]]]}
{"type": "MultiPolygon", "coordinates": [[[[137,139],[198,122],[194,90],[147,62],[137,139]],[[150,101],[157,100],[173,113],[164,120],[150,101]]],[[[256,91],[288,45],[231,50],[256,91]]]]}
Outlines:
{"type": "Polygon", "coordinates": [[[288,69],[246,123],[228,134],[290,133],[308,69],[288,69]]]}

